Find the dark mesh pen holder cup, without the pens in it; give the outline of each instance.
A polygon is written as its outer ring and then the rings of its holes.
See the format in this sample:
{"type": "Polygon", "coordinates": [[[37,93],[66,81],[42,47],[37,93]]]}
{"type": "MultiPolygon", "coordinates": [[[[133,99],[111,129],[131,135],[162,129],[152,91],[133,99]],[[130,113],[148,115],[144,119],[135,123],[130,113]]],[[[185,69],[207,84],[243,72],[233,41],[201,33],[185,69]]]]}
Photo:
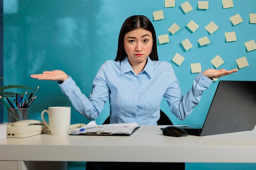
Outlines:
{"type": "Polygon", "coordinates": [[[9,123],[13,123],[20,120],[26,120],[28,118],[29,108],[7,108],[7,110],[9,123]]]}

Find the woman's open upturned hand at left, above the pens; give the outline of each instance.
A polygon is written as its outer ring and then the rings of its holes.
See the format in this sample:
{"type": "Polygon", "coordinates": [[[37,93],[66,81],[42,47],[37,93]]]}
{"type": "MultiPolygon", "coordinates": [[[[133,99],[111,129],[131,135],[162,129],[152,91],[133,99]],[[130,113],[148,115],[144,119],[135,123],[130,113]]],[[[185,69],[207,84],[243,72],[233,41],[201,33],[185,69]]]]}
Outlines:
{"type": "Polygon", "coordinates": [[[68,75],[61,70],[54,70],[54,71],[44,71],[43,74],[33,74],[30,77],[34,79],[45,79],[45,80],[52,80],[52,81],[62,81],[68,78],[68,75]]]}

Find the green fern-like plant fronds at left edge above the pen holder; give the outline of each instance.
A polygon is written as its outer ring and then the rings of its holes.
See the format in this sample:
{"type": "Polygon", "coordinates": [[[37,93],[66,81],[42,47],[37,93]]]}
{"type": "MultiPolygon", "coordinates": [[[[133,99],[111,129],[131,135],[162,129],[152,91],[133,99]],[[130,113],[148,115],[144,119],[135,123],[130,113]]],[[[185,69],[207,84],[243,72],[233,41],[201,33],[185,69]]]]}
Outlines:
{"type": "MultiPolygon", "coordinates": [[[[4,78],[4,77],[0,77],[0,79],[2,79],[2,78],[4,78]]],[[[2,87],[0,87],[0,96],[2,96],[2,97],[16,97],[16,94],[24,95],[24,93],[15,93],[15,92],[11,92],[11,91],[5,91],[5,90],[10,89],[10,88],[34,89],[34,88],[31,88],[31,87],[28,87],[28,86],[22,86],[22,85],[16,85],[16,84],[2,86],[2,87]]],[[[29,96],[29,95],[27,95],[27,96],[29,96]]]]}

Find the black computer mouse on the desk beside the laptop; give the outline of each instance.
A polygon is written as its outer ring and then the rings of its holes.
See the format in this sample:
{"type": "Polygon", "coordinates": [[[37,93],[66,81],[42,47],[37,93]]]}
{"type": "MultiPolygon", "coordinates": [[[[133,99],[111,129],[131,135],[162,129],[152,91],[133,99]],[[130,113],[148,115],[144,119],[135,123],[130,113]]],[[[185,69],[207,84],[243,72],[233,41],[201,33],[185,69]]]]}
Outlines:
{"type": "Polygon", "coordinates": [[[163,129],[163,135],[172,137],[184,137],[189,135],[184,129],[178,126],[167,126],[163,129]]]}

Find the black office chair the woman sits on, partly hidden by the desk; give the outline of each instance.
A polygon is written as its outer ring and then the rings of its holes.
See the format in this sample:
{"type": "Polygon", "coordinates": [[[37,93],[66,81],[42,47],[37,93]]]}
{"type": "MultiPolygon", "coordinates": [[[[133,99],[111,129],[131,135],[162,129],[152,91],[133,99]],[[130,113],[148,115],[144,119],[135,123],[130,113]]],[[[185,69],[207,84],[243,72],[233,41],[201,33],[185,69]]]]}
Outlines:
{"type": "MultiPolygon", "coordinates": [[[[109,124],[109,116],[103,124],[109,124]]],[[[171,119],[160,110],[160,118],[157,125],[173,125],[171,119]]],[[[172,153],[170,153],[171,155],[172,153]]],[[[185,163],[160,163],[160,162],[86,162],[85,170],[131,170],[131,169],[146,169],[146,170],[185,170],[185,163]]]]}

